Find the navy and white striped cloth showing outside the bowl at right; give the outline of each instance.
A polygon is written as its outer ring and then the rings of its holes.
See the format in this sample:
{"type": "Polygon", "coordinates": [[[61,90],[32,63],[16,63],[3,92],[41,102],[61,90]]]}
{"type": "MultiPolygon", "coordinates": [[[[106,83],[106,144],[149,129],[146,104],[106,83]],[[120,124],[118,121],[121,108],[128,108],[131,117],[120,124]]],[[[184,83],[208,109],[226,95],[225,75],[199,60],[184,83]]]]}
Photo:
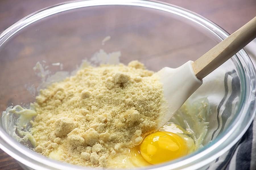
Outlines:
{"type": "MultiPolygon", "coordinates": [[[[256,39],[245,50],[256,66],[256,39]]],[[[256,117],[236,145],[216,159],[208,170],[256,170],[256,117]]]]}

